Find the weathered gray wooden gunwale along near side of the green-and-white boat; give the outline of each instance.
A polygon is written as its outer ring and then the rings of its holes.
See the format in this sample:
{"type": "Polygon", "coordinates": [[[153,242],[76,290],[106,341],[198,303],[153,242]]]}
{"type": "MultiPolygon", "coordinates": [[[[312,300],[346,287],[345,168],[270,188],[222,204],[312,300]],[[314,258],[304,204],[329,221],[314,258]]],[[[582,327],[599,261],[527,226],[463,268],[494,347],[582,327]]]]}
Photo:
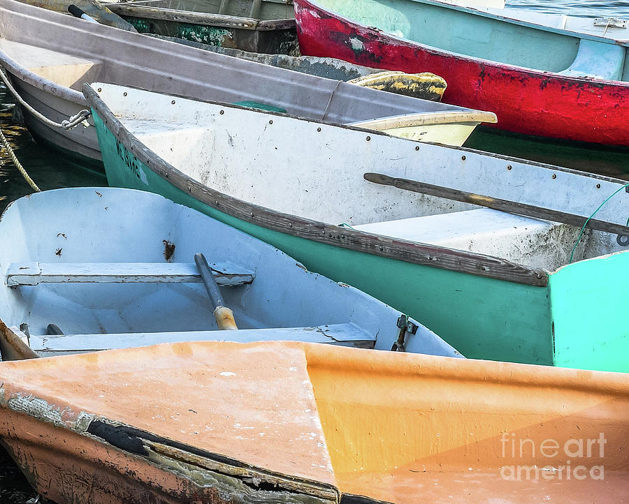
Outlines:
{"type": "MultiPolygon", "coordinates": [[[[301,218],[276,212],[272,209],[252,205],[238,200],[215,189],[204,186],[191,177],[177,170],[144,146],[122,125],[119,119],[108,109],[89,84],[83,84],[83,94],[99,114],[104,124],[110,128],[124,147],[139,161],[147,165],[159,177],[184,193],[205,203],[209,207],[224,212],[242,221],[259,225],[270,230],[280,231],[287,235],[310,239],[313,242],[342,247],[357,252],[379,255],[393,260],[411,262],[417,265],[448,269],[450,271],[484,276],[530,286],[544,287],[548,283],[548,272],[543,269],[530,268],[516,262],[503,260],[468,251],[447,249],[442,246],[409,242],[367,232],[340,228],[319,221],[301,218]]],[[[229,107],[230,105],[224,105],[229,107]]],[[[349,126],[346,126],[349,128],[349,126]]],[[[356,128],[360,129],[360,128],[356,128]]],[[[369,131],[372,135],[380,135],[369,131]]]]}

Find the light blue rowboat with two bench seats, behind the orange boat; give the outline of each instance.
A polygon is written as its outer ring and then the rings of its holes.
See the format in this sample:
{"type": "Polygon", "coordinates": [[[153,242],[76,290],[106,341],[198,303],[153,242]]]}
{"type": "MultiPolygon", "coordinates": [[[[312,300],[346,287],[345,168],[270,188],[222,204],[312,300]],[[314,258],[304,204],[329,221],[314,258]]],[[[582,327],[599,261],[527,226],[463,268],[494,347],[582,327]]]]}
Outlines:
{"type": "Polygon", "coordinates": [[[0,251],[3,359],[198,340],[391,350],[400,332],[407,351],[460,357],[390,306],[157,194],[47,191],[14,202],[0,225],[12,237],[0,251]],[[198,252],[240,330],[217,330],[198,252]]]}

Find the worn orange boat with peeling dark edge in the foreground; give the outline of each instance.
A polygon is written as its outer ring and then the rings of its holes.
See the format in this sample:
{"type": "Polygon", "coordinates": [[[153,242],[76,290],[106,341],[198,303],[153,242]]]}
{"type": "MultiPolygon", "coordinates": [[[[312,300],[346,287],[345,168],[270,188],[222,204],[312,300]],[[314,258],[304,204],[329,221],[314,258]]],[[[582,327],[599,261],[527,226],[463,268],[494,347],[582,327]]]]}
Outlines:
{"type": "Polygon", "coordinates": [[[629,500],[624,373],[201,342],[0,380],[3,443],[59,503],[629,500]]]}

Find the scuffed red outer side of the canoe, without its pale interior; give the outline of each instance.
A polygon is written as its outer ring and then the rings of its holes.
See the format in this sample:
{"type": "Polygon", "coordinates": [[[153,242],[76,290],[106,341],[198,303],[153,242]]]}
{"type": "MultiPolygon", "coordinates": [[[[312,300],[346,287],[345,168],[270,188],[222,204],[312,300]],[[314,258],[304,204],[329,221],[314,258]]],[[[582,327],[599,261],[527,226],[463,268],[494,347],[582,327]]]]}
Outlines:
{"type": "Polygon", "coordinates": [[[514,133],[629,146],[627,82],[563,77],[462,57],[363,27],[308,0],[294,3],[302,54],[436,73],[448,83],[445,102],[495,112],[496,127],[514,133]]]}

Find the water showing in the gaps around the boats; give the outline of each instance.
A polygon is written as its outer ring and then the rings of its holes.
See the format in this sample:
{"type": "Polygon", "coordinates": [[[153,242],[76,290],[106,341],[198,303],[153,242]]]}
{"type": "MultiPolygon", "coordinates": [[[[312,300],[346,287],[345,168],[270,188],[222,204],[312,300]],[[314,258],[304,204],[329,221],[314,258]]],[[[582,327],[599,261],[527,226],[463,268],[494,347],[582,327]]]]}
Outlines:
{"type": "MultiPolygon", "coordinates": [[[[507,0],[507,4],[549,13],[592,17],[602,15],[629,17],[629,0],[507,0]]],[[[106,185],[103,175],[83,170],[62,154],[34,142],[25,128],[15,124],[12,115],[13,99],[7,96],[4,87],[0,87],[2,131],[15,149],[17,158],[42,190],[106,185]]],[[[568,145],[558,146],[533,142],[528,138],[513,135],[500,136],[482,129],[476,131],[466,145],[629,179],[628,151],[575,149],[568,145]]],[[[4,149],[0,149],[0,210],[4,209],[9,202],[31,192],[31,188],[17,172],[4,149]]],[[[34,496],[36,492],[29,487],[13,461],[0,446],[0,504],[23,504],[34,496]]]]}

